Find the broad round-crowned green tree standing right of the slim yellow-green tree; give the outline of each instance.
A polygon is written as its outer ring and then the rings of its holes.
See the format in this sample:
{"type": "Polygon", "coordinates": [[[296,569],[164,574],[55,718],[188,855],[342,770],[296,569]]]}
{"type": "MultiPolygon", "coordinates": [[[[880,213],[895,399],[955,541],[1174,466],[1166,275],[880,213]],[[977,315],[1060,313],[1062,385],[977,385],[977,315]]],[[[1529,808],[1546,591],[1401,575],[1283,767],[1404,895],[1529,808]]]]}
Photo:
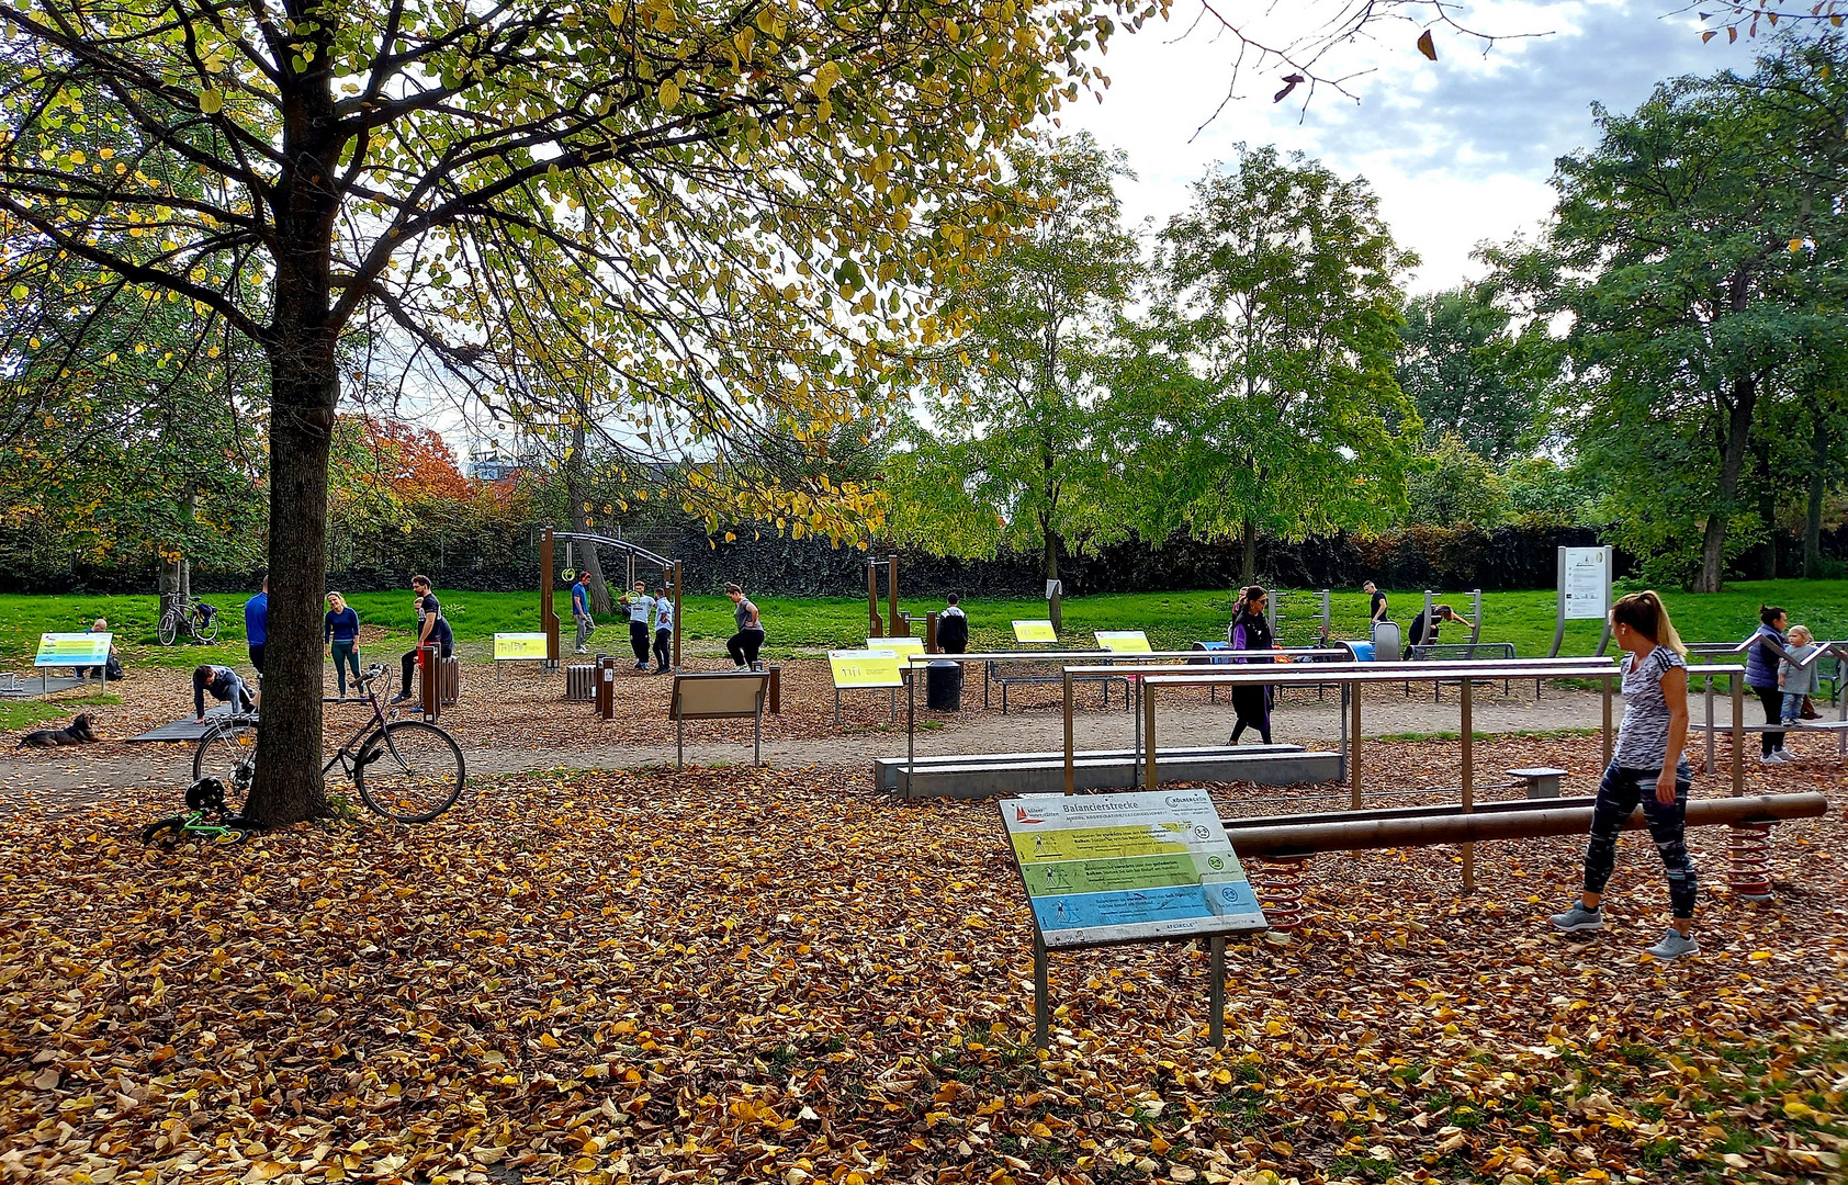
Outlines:
{"type": "Polygon", "coordinates": [[[1118,434],[1144,538],[1382,529],[1421,436],[1393,381],[1399,277],[1379,200],[1301,153],[1244,148],[1159,242],[1159,299],[1118,434]]]}

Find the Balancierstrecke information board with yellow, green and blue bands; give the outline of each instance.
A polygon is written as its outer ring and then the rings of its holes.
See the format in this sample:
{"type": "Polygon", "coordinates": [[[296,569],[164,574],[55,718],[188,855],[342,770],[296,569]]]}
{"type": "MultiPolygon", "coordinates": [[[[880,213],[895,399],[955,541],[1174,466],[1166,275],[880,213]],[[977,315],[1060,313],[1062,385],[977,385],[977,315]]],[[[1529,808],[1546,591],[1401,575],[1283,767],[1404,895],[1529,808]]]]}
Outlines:
{"type": "Polygon", "coordinates": [[[1002,799],[1052,948],[1264,930],[1264,910],[1203,789],[1002,799]]]}

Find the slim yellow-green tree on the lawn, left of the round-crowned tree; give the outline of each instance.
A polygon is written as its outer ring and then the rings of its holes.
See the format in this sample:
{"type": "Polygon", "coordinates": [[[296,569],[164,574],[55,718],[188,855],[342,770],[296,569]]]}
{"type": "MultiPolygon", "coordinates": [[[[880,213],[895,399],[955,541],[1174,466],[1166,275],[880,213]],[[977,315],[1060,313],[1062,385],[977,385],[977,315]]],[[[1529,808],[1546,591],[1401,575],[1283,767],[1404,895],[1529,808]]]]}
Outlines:
{"type": "MultiPolygon", "coordinates": [[[[893,534],[937,555],[1059,553],[1124,532],[1098,414],[1109,397],[1111,331],[1138,270],[1114,181],[1127,168],[1090,135],[1013,155],[1013,190],[1040,213],[957,285],[968,331],[942,386],[891,457],[893,534]]],[[[1059,595],[1048,597],[1053,627],[1059,595]]]]}

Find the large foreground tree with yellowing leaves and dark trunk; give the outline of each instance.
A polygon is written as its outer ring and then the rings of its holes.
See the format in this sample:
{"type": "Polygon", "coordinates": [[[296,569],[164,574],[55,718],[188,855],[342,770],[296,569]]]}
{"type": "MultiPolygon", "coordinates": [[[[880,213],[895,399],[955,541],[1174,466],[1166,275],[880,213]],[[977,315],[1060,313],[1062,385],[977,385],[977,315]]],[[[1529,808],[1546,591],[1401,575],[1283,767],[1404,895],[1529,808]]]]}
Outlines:
{"type": "MultiPolygon", "coordinates": [[[[826,427],[894,349],[954,331],[930,285],[1005,224],[994,153],[1092,83],[1081,55],[1112,13],[1144,11],[0,0],[0,213],[26,248],[0,259],[0,294],[74,259],[264,355],[272,608],[248,813],[325,810],[342,335],[377,316],[493,394],[490,327],[525,311],[684,447],[745,449],[765,418],[826,427]]],[[[754,495],[861,531],[865,499],[754,495]]]]}

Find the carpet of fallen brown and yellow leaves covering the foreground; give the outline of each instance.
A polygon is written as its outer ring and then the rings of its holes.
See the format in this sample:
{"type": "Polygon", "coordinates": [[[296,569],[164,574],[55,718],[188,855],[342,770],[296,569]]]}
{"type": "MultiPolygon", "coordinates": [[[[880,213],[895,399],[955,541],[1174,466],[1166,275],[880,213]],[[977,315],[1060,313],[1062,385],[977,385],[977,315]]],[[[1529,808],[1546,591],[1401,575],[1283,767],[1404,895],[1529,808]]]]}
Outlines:
{"type": "MultiPolygon", "coordinates": [[[[1454,784],[1451,743],[1371,752],[1375,789],[1454,784]]],[[[1480,760],[1584,788],[1597,741],[1480,760]]],[[[1848,784],[1776,776],[1837,813],[1780,828],[1765,910],[1696,836],[1704,954],[1671,967],[1639,954],[1663,904],[1639,837],[1591,943],[1543,926],[1576,839],[1484,845],[1471,898],[1453,849],[1318,858],[1307,928],[1229,952],[1223,1054],[1179,945],[1055,956],[1053,1046],[1031,1048],[992,804],[815,771],[512,776],[429,826],[229,850],[144,849],[133,828],[172,808],[146,789],[18,812],[0,1176],[1839,1179],[1848,784]]]]}

